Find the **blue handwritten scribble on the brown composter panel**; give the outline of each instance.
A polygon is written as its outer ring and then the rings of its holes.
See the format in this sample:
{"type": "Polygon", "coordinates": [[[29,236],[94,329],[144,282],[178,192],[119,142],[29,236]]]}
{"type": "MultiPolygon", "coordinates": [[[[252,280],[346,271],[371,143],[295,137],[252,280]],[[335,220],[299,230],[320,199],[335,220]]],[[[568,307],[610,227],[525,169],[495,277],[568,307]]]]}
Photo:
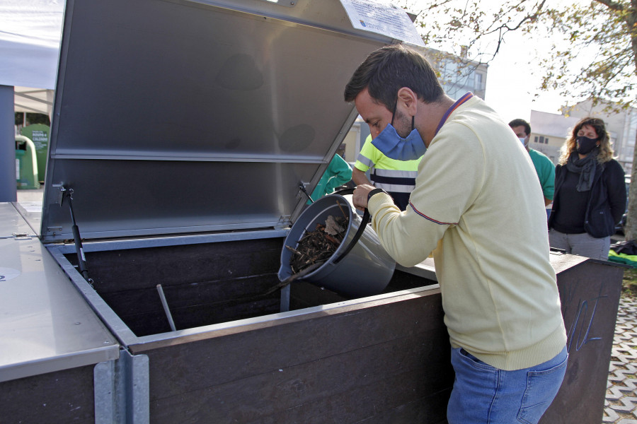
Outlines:
{"type": "MultiPolygon", "coordinates": [[[[575,317],[573,318],[573,322],[570,324],[570,328],[568,329],[568,343],[566,345],[568,352],[570,352],[573,348],[573,342],[575,342],[575,351],[579,351],[583,346],[591,341],[602,340],[602,337],[595,337],[591,333],[591,328],[593,321],[595,320],[595,312],[597,311],[597,305],[599,304],[599,300],[603,298],[607,298],[608,295],[602,295],[604,291],[604,281],[602,281],[599,285],[599,292],[595,298],[578,301],[578,310],[575,312],[575,317]],[[590,311],[589,311],[590,310],[590,311]],[[589,316],[590,313],[590,316],[589,316]]],[[[568,309],[568,305],[574,300],[574,295],[577,292],[578,283],[576,282],[573,285],[570,285],[568,288],[568,293],[566,295],[566,308],[565,308],[565,316],[566,310],[568,309]]]]}

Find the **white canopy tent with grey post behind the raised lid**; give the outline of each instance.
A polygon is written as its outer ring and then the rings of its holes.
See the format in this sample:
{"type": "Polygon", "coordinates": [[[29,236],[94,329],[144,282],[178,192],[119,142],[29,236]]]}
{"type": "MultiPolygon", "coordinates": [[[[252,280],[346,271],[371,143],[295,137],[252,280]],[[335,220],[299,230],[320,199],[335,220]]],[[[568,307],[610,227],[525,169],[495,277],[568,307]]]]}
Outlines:
{"type": "Polygon", "coordinates": [[[51,114],[64,0],[0,1],[0,201],[16,201],[13,112],[51,114]]]}

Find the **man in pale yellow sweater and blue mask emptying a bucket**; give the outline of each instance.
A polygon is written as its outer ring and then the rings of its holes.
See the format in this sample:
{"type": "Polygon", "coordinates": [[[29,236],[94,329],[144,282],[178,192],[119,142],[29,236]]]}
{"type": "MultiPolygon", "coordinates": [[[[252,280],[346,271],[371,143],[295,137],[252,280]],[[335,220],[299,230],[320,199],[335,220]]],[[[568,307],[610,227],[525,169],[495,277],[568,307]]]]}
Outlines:
{"type": "Polygon", "coordinates": [[[399,264],[433,254],[456,372],[447,420],[537,423],[561,385],[567,353],[529,155],[483,100],[466,93],[454,102],[426,59],[401,45],[372,52],[345,101],[355,102],[385,155],[424,154],[406,211],[367,184],[353,201],[369,208],[399,264]]]}

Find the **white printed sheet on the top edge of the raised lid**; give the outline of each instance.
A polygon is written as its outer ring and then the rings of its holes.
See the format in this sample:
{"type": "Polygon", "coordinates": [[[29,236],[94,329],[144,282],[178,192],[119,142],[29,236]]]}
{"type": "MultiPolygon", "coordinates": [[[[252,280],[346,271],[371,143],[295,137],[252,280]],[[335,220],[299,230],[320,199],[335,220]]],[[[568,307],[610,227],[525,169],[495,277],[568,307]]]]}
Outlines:
{"type": "Polygon", "coordinates": [[[357,30],[387,35],[425,47],[406,11],[383,0],[340,0],[357,30]]]}

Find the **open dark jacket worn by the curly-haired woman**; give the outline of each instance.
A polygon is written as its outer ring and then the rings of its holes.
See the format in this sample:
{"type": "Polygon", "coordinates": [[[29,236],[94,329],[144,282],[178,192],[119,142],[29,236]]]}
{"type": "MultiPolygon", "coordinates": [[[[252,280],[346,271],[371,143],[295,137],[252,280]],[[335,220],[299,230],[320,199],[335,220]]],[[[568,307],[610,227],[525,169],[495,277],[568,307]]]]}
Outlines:
{"type": "MultiPolygon", "coordinates": [[[[553,211],[560,208],[560,189],[566,178],[566,165],[555,167],[555,194],[553,211]]],[[[595,178],[590,188],[590,196],[584,218],[584,229],[592,237],[602,238],[615,233],[615,224],[619,223],[626,211],[626,182],[624,169],[616,160],[602,165],[597,164],[595,178]],[[601,170],[601,172],[599,172],[601,170]]],[[[549,217],[549,228],[553,228],[554,213],[549,217]]]]}

